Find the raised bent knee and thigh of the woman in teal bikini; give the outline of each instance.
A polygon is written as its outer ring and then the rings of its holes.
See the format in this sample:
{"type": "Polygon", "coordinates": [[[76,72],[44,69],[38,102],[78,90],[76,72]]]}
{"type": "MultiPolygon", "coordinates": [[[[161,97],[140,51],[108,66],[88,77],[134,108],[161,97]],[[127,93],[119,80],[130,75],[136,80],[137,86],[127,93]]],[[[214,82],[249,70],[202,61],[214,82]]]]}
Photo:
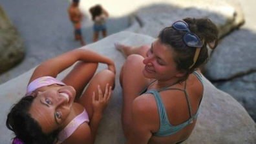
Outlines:
{"type": "Polygon", "coordinates": [[[145,78],[142,74],[143,59],[144,57],[138,54],[127,57],[120,73],[120,84],[123,88],[122,125],[126,138],[129,137],[131,125],[133,125],[131,118],[133,101],[150,82],[150,79],[145,78]]]}

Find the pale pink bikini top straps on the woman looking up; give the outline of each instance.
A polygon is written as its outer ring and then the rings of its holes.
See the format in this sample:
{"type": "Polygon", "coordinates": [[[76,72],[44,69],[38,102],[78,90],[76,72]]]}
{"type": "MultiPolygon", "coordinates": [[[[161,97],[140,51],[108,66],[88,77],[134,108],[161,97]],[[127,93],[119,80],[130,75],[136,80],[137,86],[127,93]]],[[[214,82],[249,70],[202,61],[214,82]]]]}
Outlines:
{"type": "MultiPolygon", "coordinates": [[[[58,81],[58,79],[51,77],[51,76],[44,76],[44,77],[39,77],[32,81],[28,87],[27,87],[27,95],[31,94],[34,90],[40,87],[45,87],[48,85],[53,85],[53,84],[58,84],[58,85],[65,85],[65,83],[58,81]]],[[[61,130],[58,134],[58,142],[56,144],[62,143],[65,141],[65,139],[69,138],[69,136],[72,135],[72,133],[78,129],[78,127],[82,123],[89,123],[89,116],[84,109],[81,114],[76,116],[76,118],[72,119],[70,123],[65,127],[65,129],[61,130]]]]}

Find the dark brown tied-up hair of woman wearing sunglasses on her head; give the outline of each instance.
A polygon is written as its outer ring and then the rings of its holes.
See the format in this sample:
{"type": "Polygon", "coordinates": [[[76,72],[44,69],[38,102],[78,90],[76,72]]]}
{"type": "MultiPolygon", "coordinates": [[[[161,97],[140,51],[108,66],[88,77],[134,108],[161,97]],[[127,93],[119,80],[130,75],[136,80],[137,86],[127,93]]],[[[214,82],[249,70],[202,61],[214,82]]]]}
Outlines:
{"type": "Polygon", "coordinates": [[[214,49],[218,45],[217,26],[211,20],[195,18],[186,18],[183,20],[189,25],[189,30],[196,34],[203,43],[195,65],[193,65],[193,57],[195,56],[196,48],[187,46],[183,41],[183,37],[187,33],[186,31],[175,30],[172,26],[169,26],[164,28],[158,36],[162,44],[171,46],[174,49],[174,61],[177,65],[177,70],[186,72],[185,76],[180,78],[180,82],[185,81],[195,68],[208,62],[207,45],[211,49],[214,49]]]}

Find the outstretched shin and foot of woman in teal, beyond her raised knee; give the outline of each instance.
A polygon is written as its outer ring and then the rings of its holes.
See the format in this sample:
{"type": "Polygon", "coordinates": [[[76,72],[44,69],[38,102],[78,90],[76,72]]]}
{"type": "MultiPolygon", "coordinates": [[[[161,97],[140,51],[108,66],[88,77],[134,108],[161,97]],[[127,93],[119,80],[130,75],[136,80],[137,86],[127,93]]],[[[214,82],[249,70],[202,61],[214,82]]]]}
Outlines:
{"type": "Polygon", "coordinates": [[[120,50],[120,52],[123,53],[123,56],[126,58],[127,56],[130,56],[131,54],[138,54],[142,57],[146,57],[146,52],[149,50],[148,45],[142,45],[142,46],[127,46],[122,45],[120,43],[114,43],[114,46],[116,46],[117,50],[120,50]]]}

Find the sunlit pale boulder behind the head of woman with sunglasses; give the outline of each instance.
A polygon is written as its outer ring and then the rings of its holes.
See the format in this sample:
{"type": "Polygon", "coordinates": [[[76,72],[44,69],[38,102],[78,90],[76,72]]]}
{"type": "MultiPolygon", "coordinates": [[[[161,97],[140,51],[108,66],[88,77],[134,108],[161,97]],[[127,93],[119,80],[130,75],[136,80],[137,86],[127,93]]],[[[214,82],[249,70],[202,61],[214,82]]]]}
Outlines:
{"type": "Polygon", "coordinates": [[[144,6],[134,12],[132,25],[127,30],[157,37],[162,28],[185,17],[208,17],[219,28],[219,37],[244,23],[242,8],[237,1],[171,0],[144,6]]]}

